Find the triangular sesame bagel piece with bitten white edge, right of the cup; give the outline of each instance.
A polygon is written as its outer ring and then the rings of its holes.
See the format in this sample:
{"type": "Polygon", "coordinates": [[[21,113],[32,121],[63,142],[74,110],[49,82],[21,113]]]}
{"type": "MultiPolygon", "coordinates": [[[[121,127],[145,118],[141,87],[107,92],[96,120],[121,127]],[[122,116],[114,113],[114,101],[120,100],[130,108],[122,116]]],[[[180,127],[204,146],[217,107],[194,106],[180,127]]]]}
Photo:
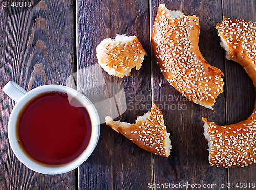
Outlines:
{"type": "Polygon", "coordinates": [[[113,121],[111,117],[106,116],[106,125],[148,152],[163,157],[170,155],[170,133],[164,125],[162,112],[155,104],[151,111],[139,116],[135,124],[113,121]]]}

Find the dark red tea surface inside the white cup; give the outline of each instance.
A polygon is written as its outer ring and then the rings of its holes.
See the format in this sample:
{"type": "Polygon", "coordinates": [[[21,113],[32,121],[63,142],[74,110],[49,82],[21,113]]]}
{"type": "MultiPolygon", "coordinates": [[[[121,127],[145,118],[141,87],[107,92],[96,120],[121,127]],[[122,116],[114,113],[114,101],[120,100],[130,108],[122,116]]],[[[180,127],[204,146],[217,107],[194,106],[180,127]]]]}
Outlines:
{"type": "Polygon", "coordinates": [[[70,105],[66,93],[50,92],[25,106],[17,137],[20,146],[39,162],[64,164],[86,149],[91,120],[86,108],[70,105]]]}

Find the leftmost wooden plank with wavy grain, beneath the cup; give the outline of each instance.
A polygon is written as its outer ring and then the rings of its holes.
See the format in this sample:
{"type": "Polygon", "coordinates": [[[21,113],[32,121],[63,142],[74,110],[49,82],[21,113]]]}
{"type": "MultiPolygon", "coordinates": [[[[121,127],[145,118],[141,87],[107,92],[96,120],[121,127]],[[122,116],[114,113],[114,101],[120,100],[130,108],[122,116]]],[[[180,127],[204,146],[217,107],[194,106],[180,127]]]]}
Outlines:
{"type": "MultiPolygon", "coordinates": [[[[17,82],[27,91],[45,84],[63,84],[74,72],[72,1],[32,1],[31,7],[0,3],[0,86],[17,82]]],[[[15,105],[1,90],[2,189],[75,189],[75,171],[42,175],[26,168],[13,154],[7,136],[8,118],[15,105]]]]}

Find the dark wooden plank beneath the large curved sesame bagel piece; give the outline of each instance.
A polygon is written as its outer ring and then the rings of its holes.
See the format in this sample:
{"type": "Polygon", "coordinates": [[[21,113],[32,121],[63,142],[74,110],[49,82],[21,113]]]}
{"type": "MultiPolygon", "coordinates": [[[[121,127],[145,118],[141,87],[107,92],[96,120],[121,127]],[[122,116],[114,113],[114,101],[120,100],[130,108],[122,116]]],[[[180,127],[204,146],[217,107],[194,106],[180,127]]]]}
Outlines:
{"type": "MultiPolygon", "coordinates": [[[[151,29],[157,9],[161,1],[151,1],[151,29]]],[[[224,72],[223,50],[219,45],[218,33],[215,29],[217,21],[221,20],[221,2],[219,1],[191,1],[165,2],[168,9],[182,10],[185,15],[195,14],[200,22],[199,48],[209,64],[224,72]]],[[[163,107],[167,131],[171,133],[172,153],[169,158],[154,156],[154,183],[179,185],[183,183],[216,185],[227,182],[225,168],[210,167],[208,162],[207,142],[204,138],[201,118],[208,118],[218,124],[225,124],[224,93],[220,94],[214,105],[214,111],[184,99],[181,94],[169,85],[156,65],[152,52],[153,93],[159,98],[155,103],[163,107]],[[162,87],[159,87],[161,84],[162,87]],[[169,101],[166,101],[167,95],[169,101]],[[162,98],[161,98],[162,97],[162,98]],[[172,100],[174,98],[174,100],[172,100]],[[177,98],[178,100],[175,100],[177,98]],[[169,109],[168,109],[169,106],[169,109]],[[181,110],[183,106],[184,110],[181,110]],[[180,109],[180,110],[179,110],[180,109]]],[[[175,186],[173,186],[175,187],[175,186]]],[[[189,188],[189,186],[182,186],[189,188]]],[[[191,187],[191,186],[190,186],[191,187]]],[[[211,186],[215,187],[215,186],[211,186]]],[[[176,188],[178,189],[179,186],[176,188]]],[[[197,188],[197,187],[196,187],[197,188]]]]}

